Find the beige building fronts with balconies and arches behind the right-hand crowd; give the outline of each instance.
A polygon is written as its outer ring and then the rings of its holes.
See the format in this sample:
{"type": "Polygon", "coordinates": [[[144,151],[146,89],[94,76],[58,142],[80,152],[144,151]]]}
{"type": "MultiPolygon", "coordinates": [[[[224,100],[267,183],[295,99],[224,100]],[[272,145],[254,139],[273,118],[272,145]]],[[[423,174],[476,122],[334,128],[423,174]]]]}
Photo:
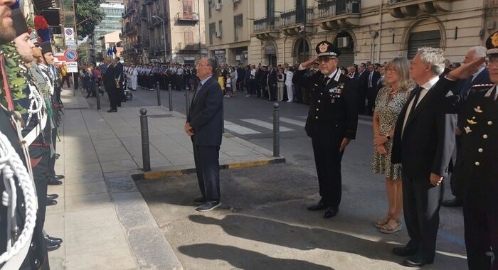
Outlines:
{"type": "Polygon", "coordinates": [[[240,29],[250,35],[247,62],[253,64],[307,60],[316,56],[314,48],[324,40],[339,47],[339,65],[344,66],[366,61],[383,63],[397,56],[413,58],[422,46],[443,48],[449,60],[462,62],[468,48],[484,45],[498,21],[494,0],[206,2],[210,3],[206,13],[212,15],[206,17],[209,53],[218,57],[220,50],[225,50],[224,58],[231,64],[238,63],[240,58],[230,48],[247,43],[243,35],[243,40],[234,41],[234,27],[238,26],[233,18],[238,14],[243,16],[240,29]],[[211,30],[215,38],[211,38],[211,30]],[[216,38],[217,35],[221,37],[216,38]]]}

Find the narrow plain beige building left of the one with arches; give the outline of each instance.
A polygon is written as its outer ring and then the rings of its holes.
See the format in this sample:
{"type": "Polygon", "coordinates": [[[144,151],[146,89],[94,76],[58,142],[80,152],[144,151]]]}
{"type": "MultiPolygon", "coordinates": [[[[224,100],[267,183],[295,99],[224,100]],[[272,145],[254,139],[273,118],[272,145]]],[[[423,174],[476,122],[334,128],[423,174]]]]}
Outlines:
{"type": "Polygon", "coordinates": [[[206,13],[206,47],[210,57],[216,57],[218,64],[248,64],[248,48],[252,22],[251,3],[248,0],[208,0],[206,13]]]}

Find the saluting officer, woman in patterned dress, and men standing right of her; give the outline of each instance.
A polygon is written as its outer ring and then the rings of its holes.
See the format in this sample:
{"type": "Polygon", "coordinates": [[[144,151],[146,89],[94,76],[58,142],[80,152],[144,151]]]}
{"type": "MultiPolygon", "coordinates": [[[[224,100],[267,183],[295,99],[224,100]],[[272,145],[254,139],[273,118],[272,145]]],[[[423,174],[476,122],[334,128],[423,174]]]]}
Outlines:
{"type": "MultiPolygon", "coordinates": [[[[375,225],[381,232],[397,232],[403,210],[410,241],[392,252],[406,257],[405,266],[435,259],[442,183],[454,167],[454,192],[464,204],[468,266],[498,268],[493,261],[498,249],[496,40],[498,32],[489,37],[487,50],[472,48],[465,65],[447,74],[438,48],[420,48],[411,62],[395,58],[385,66],[383,87],[375,97],[372,168],[386,177],[389,209],[375,225]],[[487,72],[484,55],[492,84],[474,85],[487,72]],[[461,136],[461,145],[452,161],[455,135],[461,136]]],[[[357,95],[362,93],[354,77],[340,74],[340,51],[332,43],[322,41],[316,50],[318,58],[302,63],[293,82],[311,90],[305,129],[312,138],[321,200],[308,210],[325,210],[324,218],[330,218],[339,212],[340,163],[356,136],[357,95]],[[316,62],[320,72],[306,77],[316,62]]]]}

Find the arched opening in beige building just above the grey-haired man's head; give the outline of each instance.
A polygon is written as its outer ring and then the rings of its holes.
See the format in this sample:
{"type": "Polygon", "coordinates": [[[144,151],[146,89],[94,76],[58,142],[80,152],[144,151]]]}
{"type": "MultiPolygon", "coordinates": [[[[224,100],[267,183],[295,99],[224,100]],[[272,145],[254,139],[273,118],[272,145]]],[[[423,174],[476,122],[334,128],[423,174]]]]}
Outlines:
{"type": "Polygon", "coordinates": [[[438,23],[429,20],[418,21],[408,30],[408,59],[417,54],[418,48],[433,47],[440,48],[441,29],[438,23]]]}

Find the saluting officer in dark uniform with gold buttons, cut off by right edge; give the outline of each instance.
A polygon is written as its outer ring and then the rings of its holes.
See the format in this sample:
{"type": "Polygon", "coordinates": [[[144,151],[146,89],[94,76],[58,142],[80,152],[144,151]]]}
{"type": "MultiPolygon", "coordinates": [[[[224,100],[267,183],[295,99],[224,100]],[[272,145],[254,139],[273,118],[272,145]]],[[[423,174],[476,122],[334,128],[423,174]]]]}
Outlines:
{"type": "MultiPolygon", "coordinates": [[[[498,269],[498,31],[489,36],[486,47],[492,85],[473,85],[467,96],[450,99],[464,121],[462,154],[455,163],[455,193],[464,200],[465,246],[471,270],[498,269]]],[[[483,61],[462,65],[447,79],[466,79],[483,61]]],[[[441,88],[455,84],[445,83],[441,88]]]]}

